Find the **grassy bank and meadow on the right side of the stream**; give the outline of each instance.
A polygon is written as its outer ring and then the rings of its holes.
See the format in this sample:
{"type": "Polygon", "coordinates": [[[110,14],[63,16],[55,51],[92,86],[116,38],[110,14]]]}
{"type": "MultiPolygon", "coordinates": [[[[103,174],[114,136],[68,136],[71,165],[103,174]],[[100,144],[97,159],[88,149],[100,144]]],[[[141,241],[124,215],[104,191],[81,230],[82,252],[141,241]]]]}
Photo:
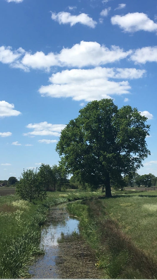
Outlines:
{"type": "Polygon", "coordinates": [[[115,192],[113,198],[68,205],[97,256],[104,278],[157,278],[157,192],[115,192]]]}

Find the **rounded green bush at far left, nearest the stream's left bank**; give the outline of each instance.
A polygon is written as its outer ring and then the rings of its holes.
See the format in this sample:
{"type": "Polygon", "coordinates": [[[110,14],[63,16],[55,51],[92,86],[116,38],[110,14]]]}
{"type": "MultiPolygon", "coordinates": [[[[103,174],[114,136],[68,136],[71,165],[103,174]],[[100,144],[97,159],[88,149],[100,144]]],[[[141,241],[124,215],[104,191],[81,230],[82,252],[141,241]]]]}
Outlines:
{"type": "Polygon", "coordinates": [[[41,178],[37,174],[37,169],[26,170],[22,173],[22,177],[19,182],[16,183],[16,193],[21,196],[22,199],[32,202],[32,200],[42,200],[46,196],[46,192],[43,191],[43,185],[41,178]]]}

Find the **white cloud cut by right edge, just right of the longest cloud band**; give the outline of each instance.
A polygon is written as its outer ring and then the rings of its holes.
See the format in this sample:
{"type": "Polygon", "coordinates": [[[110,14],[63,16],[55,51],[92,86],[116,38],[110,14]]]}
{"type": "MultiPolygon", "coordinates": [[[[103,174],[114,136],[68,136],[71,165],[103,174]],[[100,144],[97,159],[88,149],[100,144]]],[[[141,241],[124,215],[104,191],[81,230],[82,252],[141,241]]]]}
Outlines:
{"type": "Polygon", "coordinates": [[[135,63],[157,62],[157,46],[154,47],[143,47],[137,49],[130,56],[130,59],[135,61],[135,63]]]}

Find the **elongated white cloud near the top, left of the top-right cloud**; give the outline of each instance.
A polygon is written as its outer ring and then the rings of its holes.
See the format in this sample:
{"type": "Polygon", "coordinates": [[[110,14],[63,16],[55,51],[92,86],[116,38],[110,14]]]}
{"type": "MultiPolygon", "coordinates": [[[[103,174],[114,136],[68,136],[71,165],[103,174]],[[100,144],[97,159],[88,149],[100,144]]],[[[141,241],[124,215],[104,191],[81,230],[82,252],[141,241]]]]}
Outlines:
{"type": "Polygon", "coordinates": [[[73,26],[76,23],[81,23],[83,25],[95,28],[95,26],[97,25],[96,21],[94,21],[91,17],[84,13],[75,16],[71,15],[68,12],[59,12],[58,14],[52,12],[51,18],[59,22],[59,24],[70,23],[70,26],[73,26]]]}

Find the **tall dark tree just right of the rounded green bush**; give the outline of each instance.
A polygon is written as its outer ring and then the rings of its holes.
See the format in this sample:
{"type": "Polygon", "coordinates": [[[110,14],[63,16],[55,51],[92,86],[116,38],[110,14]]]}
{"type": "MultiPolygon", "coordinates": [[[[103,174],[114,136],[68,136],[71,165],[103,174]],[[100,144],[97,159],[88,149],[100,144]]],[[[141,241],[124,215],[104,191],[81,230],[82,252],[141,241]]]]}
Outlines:
{"type": "Polygon", "coordinates": [[[43,190],[44,191],[49,191],[50,187],[52,186],[52,178],[53,178],[53,172],[52,168],[50,167],[49,164],[44,164],[38,168],[38,176],[41,180],[43,190]]]}

